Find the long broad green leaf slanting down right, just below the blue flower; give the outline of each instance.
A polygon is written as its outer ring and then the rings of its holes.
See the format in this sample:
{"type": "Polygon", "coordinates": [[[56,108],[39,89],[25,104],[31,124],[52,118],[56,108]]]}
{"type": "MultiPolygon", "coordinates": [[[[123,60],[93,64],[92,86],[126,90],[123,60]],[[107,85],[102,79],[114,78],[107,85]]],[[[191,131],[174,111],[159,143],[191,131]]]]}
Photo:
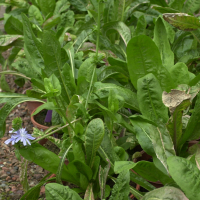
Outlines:
{"type": "MultiPolygon", "coordinates": [[[[43,146],[35,143],[31,146],[20,148],[19,152],[27,160],[36,163],[49,172],[56,173],[60,163],[60,158],[43,146]]],[[[67,170],[66,165],[63,167],[62,179],[79,185],[77,180],[67,170]]]]}

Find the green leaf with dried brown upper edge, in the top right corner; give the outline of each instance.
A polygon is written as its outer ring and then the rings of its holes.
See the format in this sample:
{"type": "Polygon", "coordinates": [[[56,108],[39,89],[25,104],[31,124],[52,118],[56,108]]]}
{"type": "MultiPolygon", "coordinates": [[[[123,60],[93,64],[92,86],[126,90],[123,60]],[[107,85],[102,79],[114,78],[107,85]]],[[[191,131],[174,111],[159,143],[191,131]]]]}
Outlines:
{"type": "Polygon", "coordinates": [[[163,18],[180,30],[193,31],[200,28],[199,19],[185,13],[165,13],[163,18]]]}

